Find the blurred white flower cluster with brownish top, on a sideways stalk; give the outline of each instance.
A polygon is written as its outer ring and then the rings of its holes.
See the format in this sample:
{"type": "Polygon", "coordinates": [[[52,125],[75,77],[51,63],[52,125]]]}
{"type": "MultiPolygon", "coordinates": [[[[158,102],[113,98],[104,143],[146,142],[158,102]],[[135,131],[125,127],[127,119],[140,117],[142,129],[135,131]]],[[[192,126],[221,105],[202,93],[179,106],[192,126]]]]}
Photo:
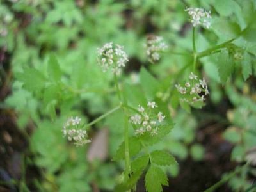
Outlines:
{"type": "Polygon", "coordinates": [[[148,36],[147,44],[144,47],[149,60],[153,62],[159,61],[159,52],[167,49],[167,45],[163,42],[163,37],[161,36],[148,36]]]}

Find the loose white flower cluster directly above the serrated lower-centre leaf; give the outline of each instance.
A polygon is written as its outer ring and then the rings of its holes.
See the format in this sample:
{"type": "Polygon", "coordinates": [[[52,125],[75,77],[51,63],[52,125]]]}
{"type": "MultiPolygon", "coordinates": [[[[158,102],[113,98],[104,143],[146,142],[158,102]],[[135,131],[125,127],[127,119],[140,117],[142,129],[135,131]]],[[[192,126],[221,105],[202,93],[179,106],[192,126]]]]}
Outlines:
{"type": "Polygon", "coordinates": [[[145,132],[150,132],[151,136],[158,133],[159,126],[163,123],[165,116],[162,112],[153,113],[152,109],[157,108],[156,102],[148,102],[147,110],[143,106],[138,106],[138,112],[131,116],[130,122],[136,125],[135,134],[142,135],[145,132]]]}

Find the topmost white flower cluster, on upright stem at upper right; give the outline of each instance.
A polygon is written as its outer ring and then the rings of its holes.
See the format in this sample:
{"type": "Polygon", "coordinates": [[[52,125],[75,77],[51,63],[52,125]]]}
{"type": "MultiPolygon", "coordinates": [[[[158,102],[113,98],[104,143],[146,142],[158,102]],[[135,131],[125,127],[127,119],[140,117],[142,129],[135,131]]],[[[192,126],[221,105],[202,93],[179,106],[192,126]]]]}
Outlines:
{"type": "Polygon", "coordinates": [[[185,11],[188,12],[194,27],[202,25],[207,29],[210,28],[211,23],[208,19],[211,18],[211,12],[207,12],[203,8],[186,8],[185,11]]]}

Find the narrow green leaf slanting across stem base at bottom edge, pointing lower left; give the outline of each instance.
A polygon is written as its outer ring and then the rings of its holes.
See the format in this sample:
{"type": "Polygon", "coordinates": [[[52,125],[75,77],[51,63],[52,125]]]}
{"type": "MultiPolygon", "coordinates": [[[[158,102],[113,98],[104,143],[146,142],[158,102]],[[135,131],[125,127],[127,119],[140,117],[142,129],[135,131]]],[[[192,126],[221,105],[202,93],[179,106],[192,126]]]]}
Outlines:
{"type": "Polygon", "coordinates": [[[132,189],[136,185],[137,181],[140,179],[142,173],[143,169],[140,169],[137,172],[132,173],[132,176],[129,177],[129,179],[124,182],[124,184],[116,186],[115,191],[124,192],[128,191],[129,189],[132,189]]]}

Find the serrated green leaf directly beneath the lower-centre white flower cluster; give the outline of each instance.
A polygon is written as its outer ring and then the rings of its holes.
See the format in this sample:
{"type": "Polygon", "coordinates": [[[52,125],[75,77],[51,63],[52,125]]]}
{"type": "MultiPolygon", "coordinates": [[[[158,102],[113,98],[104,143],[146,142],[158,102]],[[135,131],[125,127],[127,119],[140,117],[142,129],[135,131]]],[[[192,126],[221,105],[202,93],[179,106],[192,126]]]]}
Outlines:
{"type": "Polygon", "coordinates": [[[174,124],[163,125],[159,127],[159,131],[156,135],[151,136],[150,132],[146,132],[142,136],[139,136],[140,140],[143,142],[144,145],[154,145],[159,143],[170,131],[172,131],[174,124]]]}

